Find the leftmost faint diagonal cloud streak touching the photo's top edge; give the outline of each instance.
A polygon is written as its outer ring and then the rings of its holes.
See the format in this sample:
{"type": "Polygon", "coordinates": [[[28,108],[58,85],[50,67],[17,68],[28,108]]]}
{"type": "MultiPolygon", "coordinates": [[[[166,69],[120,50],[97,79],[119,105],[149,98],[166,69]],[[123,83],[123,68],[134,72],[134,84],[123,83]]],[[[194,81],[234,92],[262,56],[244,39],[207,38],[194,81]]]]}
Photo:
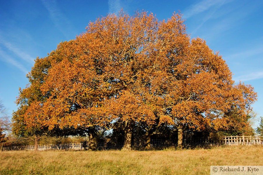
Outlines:
{"type": "Polygon", "coordinates": [[[72,39],[74,36],[74,32],[72,31],[72,25],[70,21],[67,19],[64,13],[60,11],[57,7],[57,3],[55,0],[47,1],[41,0],[44,4],[45,8],[48,10],[50,18],[52,22],[55,24],[56,28],[67,38],[72,39]]]}

